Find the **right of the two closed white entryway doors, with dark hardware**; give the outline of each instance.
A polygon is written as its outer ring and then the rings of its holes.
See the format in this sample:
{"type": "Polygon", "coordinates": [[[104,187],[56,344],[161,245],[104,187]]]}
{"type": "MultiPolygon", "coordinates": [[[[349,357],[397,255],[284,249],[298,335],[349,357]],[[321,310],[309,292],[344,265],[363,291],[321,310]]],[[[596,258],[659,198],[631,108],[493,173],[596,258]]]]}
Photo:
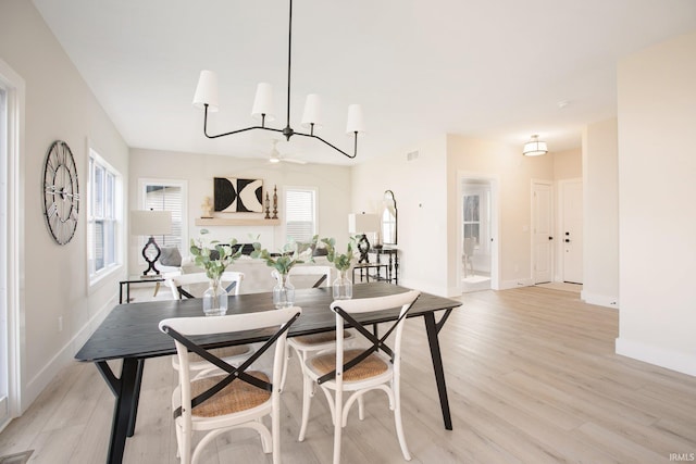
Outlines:
{"type": "Polygon", "coordinates": [[[583,283],[583,183],[563,184],[563,281],[583,283]]]}

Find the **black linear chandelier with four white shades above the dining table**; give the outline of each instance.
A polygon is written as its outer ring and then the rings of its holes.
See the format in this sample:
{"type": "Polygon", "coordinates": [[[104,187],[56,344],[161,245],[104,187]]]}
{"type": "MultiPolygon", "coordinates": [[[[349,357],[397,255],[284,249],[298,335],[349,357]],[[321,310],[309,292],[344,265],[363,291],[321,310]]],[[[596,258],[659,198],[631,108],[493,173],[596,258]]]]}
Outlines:
{"type": "Polygon", "coordinates": [[[309,128],[309,134],[295,131],[290,127],[290,68],[291,68],[291,45],[293,45],[293,0],[289,0],[289,14],[288,14],[288,47],[287,47],[287,120],[285,128],[276,129],[273,127],[266,127],[265,123],[273,121],[273,91],[270,84],[261,83],[257,87],[257,95],[253,100],[253,109],[251,110],[251,115],[256,118],[261,120],[260,126],[250,126],[245,127],[243,129],[231,130],[224,134],[209,135],[208,134],[208,112],[216,112],[219,109],[217,105],[217,75],[212,71],[201,71],[200,77],[198,79],[198,86],[196,87],[196,93],[194,96],[194,105],[197,108],[202,108],[204,110],[203,116],[203,134],[208,138],[219,138],[231,136],[233,134],[239,134],[246,130],[251,129],[264,129],[264,130],[273,130],[276,133],[281,133],[285,136],[286,140],[289,140],[294,135],[311,137],[319,139],[333,148],[334,150],[343,153],[344,155],[352,159],[358,154],[358,134],[364,133],[364,122],[362,117],[362,109],[359,104],[351,104],[348,106],[348,124],[346,126],[346,134],[352,135],[353,142],[353,152],[349,154],[338,147],[330,143],[323,138],[319,137],[314,134],[314,127],[321,127],[320,121],[320,108],[319,108],[319,96],[311,93],[307,97],[307,102],[304,104],[304,113],[302,115],[301,126],[309,128]]]}

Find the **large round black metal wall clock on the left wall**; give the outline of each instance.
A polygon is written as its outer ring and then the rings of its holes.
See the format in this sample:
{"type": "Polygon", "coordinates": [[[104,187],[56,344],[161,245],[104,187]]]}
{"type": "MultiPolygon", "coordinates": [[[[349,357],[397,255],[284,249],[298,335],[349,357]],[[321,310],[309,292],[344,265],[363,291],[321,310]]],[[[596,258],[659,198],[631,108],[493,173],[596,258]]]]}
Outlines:
{"type": "Polygon", "coordinates": [[[70,147],[57,140],[49,148],[44,164],[44,213],[46,224],[58,244],[75,235],[79,213],[77,166],[70,147]]]}

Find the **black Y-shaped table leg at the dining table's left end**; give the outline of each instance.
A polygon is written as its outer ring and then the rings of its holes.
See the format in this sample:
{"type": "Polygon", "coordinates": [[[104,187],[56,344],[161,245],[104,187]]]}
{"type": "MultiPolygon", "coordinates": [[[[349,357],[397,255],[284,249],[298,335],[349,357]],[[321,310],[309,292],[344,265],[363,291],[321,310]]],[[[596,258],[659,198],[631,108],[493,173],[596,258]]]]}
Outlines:
{"type": "Polygon", "coordinates": [[[109,455],[107,462],[116,464],[123,462],[123,451],[126,447],[126,437],[130,423],[135,425],[134,404],[137,405],[136,384],[138,377],[138,360],[126,358],[121,366],[121,378],[116,378],[105,361],[96,363],[102,377],[116,397],[111,423],[111,439],[109,442],[109,455]]]}

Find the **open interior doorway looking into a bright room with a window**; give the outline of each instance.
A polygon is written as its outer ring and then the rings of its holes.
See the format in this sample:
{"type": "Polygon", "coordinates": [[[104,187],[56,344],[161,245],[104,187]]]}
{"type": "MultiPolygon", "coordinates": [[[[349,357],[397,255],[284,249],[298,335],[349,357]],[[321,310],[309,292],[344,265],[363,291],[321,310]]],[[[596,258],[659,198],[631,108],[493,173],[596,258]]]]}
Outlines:
{"type": "Polygon", "coordinates": [[[460,175],[459,281],[462,292],[498,288],[497,180],[460,175]]]}

